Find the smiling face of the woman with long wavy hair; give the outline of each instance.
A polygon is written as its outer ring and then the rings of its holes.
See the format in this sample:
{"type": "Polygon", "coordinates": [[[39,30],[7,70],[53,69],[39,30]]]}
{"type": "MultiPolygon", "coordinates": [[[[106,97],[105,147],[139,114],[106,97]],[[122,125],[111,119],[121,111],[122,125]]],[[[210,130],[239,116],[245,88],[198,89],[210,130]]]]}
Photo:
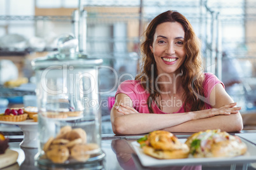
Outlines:
{"type": "Polygon", "coordinates": [[[150,49],[157,63],[158,74],[176,73],[180,68],[185,60],[184,37],[185,32],[178,22],[157,25],[150,49]]]}

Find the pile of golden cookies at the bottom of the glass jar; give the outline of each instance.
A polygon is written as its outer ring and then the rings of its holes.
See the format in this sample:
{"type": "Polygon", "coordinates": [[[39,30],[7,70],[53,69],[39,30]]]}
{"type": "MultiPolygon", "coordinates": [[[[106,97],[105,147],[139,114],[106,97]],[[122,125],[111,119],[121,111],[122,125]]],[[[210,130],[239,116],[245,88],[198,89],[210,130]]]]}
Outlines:
{"type": "Polygon", "coordinates": [[[90,154],[100,151],[97,143],[87,143],[87,134],[82,128],[64,126],[56,138],[52,136],[43,146],[46,158],[57,164],[69,161],[85,162],[90,154]]]}

